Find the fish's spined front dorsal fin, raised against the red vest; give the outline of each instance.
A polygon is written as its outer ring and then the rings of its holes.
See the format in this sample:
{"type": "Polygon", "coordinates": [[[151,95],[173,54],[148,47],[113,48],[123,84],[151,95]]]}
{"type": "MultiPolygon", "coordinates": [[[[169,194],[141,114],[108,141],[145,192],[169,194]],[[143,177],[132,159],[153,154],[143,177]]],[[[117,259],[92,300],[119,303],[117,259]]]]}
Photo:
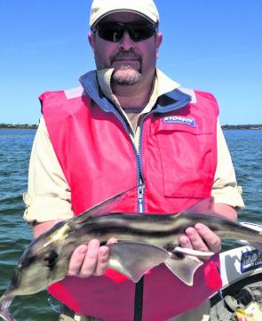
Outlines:
{"type": "Polygon", "coordinates": [[[113,197],[107,198],[105,201],[102,201],[99,204],[94,205],[90,209],[84,211],[83,213],[75,216],[74,221],[82,222],[85,221],[87,217],[97,217],[114,212],[115,206],[123,202],[123,200],[128,197],[128,193],[131,190],[137,189],[138,187],[139,186],[131,189],[126,189],[123,192],[114,195],[113,197]]]}

